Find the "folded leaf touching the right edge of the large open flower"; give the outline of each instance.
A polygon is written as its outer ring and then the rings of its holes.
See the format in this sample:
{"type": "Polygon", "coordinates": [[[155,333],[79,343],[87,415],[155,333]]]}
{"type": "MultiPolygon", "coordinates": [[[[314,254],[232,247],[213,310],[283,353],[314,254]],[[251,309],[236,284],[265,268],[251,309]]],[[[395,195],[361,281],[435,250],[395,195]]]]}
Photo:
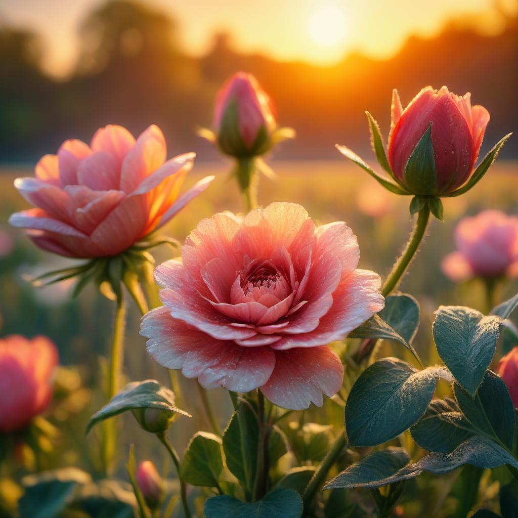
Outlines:
{"type": "Polygon", "coordinates": [[[408,349],[422,365],[412,340],[419,327],[419,305],[410,295],[390,295],[385,307],[349,333],[349,338],[395,340],[408,349]]]}

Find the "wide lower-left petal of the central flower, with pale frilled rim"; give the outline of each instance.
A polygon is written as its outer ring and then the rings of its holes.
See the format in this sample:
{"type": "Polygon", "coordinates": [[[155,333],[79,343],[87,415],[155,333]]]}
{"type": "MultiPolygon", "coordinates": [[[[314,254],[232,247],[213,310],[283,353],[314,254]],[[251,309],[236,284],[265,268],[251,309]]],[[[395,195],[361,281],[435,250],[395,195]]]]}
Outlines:
{"type": "Polygon", "coordinates": [[[147,313],[140,334],[149,338],[148,352],[168,369],[182,369],[206,388],[221,386],[249,392],[263,385],[274,370],[275,353],[268,347],[246,348],[211,338],[171,317],[165,307],[147,313]]]}

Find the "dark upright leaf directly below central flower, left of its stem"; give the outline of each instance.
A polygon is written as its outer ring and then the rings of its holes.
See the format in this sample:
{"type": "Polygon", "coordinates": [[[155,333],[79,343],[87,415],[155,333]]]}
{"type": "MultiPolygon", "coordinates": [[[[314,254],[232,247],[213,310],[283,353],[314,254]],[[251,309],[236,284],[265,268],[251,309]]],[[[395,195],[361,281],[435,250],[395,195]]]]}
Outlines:
{"type": "Polygon", "coordinates": [[[223,432],[223,451],[228,469],[249,490],[257,465],[257,438],[255,413],[248,402],[240,401],[223,432]]]}

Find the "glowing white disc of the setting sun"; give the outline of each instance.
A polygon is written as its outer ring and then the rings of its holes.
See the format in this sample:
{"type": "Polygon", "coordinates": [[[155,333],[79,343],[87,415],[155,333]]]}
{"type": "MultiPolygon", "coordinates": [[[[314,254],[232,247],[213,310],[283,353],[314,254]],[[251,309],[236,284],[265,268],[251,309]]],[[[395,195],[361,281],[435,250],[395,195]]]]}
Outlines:
{"type": "Polygon", "coordinates": [[[320,47],[343,48],[347,29],[346,13],[338,5],[319,5],[309,14],[308,33],[320,47]]]}

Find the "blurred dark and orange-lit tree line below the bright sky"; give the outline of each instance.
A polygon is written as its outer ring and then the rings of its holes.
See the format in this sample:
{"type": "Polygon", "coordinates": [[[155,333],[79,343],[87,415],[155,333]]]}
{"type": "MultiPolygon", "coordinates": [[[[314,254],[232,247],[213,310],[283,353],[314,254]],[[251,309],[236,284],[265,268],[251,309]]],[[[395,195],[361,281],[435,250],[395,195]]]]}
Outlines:
{"type": "MultiPolygon", "coordinates": [[[[405,104],[424,85],[472,92],[474,104],[491,112],[485,149],[516,130],[518,114],[518,18],[501,12],[505,30],[482,35],[451,22],[433,39],[410,37],[390,60],[351,54],[333,67],[282,63],[241,54],[226,34],[214,37],[201,58],[186,55],[177,24],[143,3],[111,0],[80,28],[73,75],[57,81],[42,73],[38,35],[0,27],[0,162],[33,162],[65,138],[87,140],[97,127],[119,123],[138,134],[162,127],[169,155],[215,151],[195,135],[210,126],[215,92],[234,71],[257,76],[275,100],[282,125],[298,137],[277,152],[284,159],[334,158],[335,142],[358,151],[368,146],[364,110],[388,134],[392,88],[405,104]]],[[[514,139],[507,157],[518,157],[514,139]]],[[[485,151],[485,149],[483,151],[485,151]]]]}

